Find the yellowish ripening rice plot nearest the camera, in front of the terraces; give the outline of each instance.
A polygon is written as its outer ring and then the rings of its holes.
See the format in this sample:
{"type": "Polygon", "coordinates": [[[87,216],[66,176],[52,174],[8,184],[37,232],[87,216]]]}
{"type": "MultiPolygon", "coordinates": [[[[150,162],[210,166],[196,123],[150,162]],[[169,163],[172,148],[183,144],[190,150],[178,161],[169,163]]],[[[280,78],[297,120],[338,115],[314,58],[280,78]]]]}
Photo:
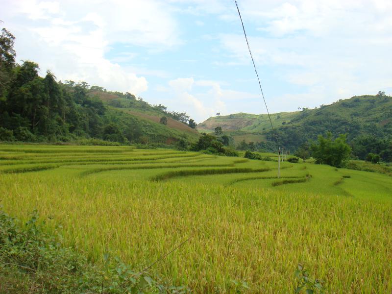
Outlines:
{"type": "Polygon", "coordinates": [[[111,252],[142,269],[193,236],[151,273],[197,293],[225,292],[231,279],[290,292],[298,263],[328,292],[392,291],[391,202],[39,174],[3,175],[0,187],[6,211],[26,219],[37,208],[94,260],[111,252]]]}

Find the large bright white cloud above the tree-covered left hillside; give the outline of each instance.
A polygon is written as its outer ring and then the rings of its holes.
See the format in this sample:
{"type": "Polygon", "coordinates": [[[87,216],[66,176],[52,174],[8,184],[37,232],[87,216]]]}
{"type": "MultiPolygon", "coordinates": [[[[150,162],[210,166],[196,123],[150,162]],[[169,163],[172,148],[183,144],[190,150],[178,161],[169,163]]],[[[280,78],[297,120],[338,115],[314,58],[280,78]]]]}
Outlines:
{"type": "Polygon", "coordinates": [[[59,79],[85,80],[108,90],[135,94],[147,90],[147,80],[137,75],[137,69],[118,64],[135,53],[120,52],[109,60],[105,56],[112,45],[156,51],[181,43],[169,9],[157,0],[25,0],[4,6],[6,26],[17,37],[18,60],[34,60],[59,79]]]}

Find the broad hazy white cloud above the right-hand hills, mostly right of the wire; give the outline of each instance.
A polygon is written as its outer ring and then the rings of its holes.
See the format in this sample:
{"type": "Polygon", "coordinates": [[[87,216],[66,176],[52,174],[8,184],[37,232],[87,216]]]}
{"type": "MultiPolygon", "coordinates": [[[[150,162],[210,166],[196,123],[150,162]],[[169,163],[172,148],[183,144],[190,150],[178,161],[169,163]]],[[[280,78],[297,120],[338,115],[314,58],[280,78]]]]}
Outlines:
{"type": "MultiPolygon", "coordinates": [[[[269,104],[274,111],[375,94],[391,87],[391,1],[274,1],[267,7],[260,1],[241,2],[259,73],[267,66],[265,74],[302,87],[299,93],[274,97],[273,89],[265,85],[272,93],[269,104]],[[255,27],[260,33],[249,33],[255,27]]],[[[251,71],[242,32],[221,34],[220,40],[232,59],[215,64],[241,63],[251,71]]]]}

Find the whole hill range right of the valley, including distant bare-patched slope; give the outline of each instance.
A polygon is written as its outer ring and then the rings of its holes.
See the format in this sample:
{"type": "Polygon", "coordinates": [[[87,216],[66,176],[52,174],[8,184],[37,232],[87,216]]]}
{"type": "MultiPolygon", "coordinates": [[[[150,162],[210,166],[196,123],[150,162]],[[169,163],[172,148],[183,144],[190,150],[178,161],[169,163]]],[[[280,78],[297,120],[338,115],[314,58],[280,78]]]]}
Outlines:
{"type": "Polygon", "coordinates": [[[392,160],[392,97],[384,93],[356,96],[315,109],[272,114],[271,118],[275,131],[271,130],[266,115],[242,113],[209,118],[198,128],[213,131],[221,126],[223,134],[234,139],[264,141],[271,143],[269,146],[279,144],[291,150],[331,131],[334,136],[347,134],[353,153],[361,159],[369,152],[383,152],[385,160],[392,160]]]}

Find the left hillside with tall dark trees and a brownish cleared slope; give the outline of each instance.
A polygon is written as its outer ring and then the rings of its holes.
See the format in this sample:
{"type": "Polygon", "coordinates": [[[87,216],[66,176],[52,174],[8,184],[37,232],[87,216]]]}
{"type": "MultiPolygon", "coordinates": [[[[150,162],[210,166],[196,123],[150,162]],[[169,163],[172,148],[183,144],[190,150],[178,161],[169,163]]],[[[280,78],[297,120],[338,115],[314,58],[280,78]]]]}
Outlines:
{"type": "Polygon", "coordinates": [[[0,35],[0,141],[164,144],[186,147],[199,134],[186,113],[168,112],[130,93],[39,76],[15,63],[14,36],[0,35]]]}

